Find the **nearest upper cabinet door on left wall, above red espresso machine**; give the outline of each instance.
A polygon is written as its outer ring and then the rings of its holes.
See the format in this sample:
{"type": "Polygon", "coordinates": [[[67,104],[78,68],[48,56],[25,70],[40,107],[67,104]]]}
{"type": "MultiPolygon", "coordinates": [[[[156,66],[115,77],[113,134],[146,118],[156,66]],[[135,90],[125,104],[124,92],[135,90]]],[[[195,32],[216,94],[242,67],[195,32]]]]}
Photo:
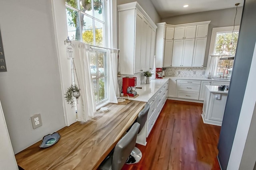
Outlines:
{"type": "MultiPolygon", "coordinates": [[[[142,22],[143,16],[137,11],[136,14],[136,34],[135,34],[135,61],[134,61],[134,74],[141,72],[140,68],[140,53],[141,53],[141,43],[142,43],[142,22]]],[[[144,31],[145,32],[145,31],[144,31]]],[[[132,58],[131,58],[132,60],[132,58]]]]}

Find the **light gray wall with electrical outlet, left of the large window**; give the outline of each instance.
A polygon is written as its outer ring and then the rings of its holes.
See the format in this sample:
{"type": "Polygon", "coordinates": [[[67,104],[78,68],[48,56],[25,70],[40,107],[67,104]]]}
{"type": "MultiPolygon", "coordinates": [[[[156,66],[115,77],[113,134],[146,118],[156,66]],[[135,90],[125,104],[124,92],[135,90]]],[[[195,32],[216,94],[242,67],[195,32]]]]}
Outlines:
{"type": "Polygon", "coordinates": [[[65,126],[51,1],[1,0],[0,16],[8,69],[0,72],[0,100],[17,153],[65,126]]]}

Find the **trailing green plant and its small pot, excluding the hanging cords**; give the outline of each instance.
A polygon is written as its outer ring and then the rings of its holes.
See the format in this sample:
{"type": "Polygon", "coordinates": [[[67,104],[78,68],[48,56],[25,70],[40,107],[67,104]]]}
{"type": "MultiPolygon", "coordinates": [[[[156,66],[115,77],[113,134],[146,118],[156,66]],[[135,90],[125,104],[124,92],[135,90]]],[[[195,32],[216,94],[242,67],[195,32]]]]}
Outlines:
{"type": "Polygon", "coordinates": [[[67,92],[66,92],[66,101],[68,102],[68,104],[71,104],[71,107],[74,107],[75,105],[75,101],[74,101],[74,98],[76,98],[76,100],[78,100],[78,97],[80,96],[80,89],[78,88],[78,86],[75,84],[75,85],[71,85],[67,92]]]}

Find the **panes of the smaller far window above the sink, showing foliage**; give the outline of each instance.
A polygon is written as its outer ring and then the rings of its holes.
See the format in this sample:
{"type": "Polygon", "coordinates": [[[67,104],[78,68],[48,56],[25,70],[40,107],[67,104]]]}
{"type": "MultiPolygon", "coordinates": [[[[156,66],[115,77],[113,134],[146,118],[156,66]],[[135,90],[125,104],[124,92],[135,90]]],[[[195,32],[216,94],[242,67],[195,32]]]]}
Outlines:
{"type": "MultiPolygon", "coordinates": [[[[234,31],[233,34],[231,31],[217,33],[214,55],[220,55],[220,58],[225,57],[225,55],[235,55],[238,33],[238,31],[234,31]]],[[[230,76],[233,68],[233,61],[234,60],[219,60],[216,76],[223,76],[224,72],[227,73],[225,73],[225,75],[230,76]],[[226,71],[226,69],[228,71],[226,71]]]]}

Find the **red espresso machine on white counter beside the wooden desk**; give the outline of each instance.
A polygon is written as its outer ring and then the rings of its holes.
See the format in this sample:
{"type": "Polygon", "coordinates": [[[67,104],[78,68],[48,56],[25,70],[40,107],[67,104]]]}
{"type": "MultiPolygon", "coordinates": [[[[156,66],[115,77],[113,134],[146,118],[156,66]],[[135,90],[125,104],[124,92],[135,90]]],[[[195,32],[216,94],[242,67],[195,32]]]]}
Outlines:
{"type": "Polygon", "coordinates": [[[134,97],[137,95],[137,92],[133,90],[137,85],[137,77],[123,77],[123,94],[124,96],[134,97]]]}

